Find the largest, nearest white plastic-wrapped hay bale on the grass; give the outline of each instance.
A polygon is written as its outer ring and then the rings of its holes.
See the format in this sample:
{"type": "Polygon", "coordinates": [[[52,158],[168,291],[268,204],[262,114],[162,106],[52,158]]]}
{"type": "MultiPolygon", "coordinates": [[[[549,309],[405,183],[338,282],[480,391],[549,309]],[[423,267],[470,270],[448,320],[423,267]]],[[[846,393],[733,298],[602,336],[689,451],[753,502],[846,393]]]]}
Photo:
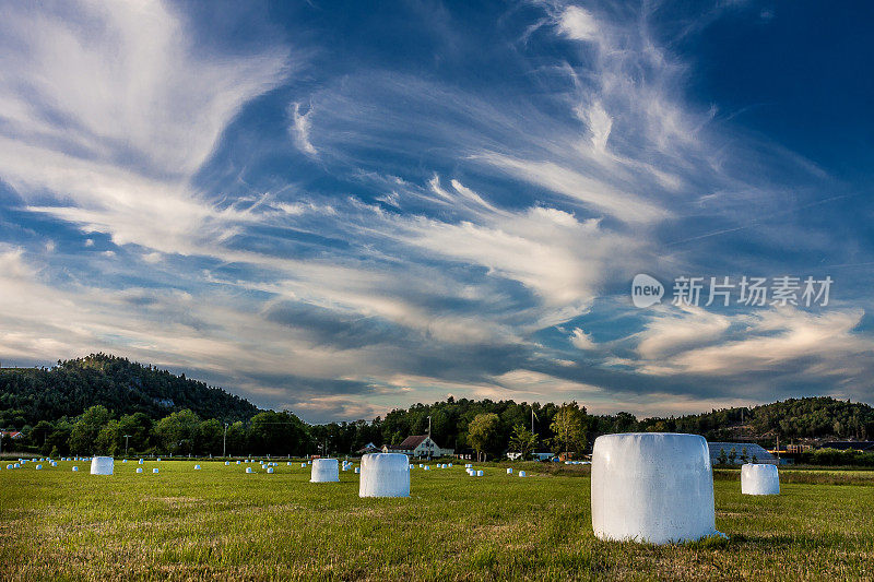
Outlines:
{"type": "Polygon", "coordinates": [[[592,451],[599,539],[668,544],[718,534],[707,441],[698,435],[604,435],[592,451]]]}

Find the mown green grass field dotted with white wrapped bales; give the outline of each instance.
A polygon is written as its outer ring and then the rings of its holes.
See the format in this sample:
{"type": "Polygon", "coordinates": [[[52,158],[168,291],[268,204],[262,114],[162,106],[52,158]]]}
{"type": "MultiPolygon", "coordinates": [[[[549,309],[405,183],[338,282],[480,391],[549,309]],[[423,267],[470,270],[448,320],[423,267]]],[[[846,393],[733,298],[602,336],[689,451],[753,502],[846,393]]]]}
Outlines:
{"type": "Polygon", "coordinates": [[[831,485],[790,483],[787,471],[782,495],[763,498],[741,496],[737,472],[718,472],[717,527],[729,539],[657,547],[594,538],[578,467],[516,464],[528,478],[487,464],[479,478],[459,465],[416,468],[411,498],[359,499],[353,472],[310,484],[299,463],[247,475],[146,462],[137,475],[117,461],[114,476],[73,464],[3,463],[1,579],[874,579],[874,475],[864,472],[831,485]]]}

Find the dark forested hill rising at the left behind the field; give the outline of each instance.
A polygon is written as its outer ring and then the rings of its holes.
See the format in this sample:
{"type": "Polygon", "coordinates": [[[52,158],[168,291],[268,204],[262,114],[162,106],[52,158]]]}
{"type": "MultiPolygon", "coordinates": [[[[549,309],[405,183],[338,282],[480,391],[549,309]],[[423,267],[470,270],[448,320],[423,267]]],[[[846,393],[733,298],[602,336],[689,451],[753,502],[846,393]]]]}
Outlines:
{"type": "Polygon", "coordinates": [[[105,354],[52,368],[0,369],[0,426],[72,418],[98,404],[116,415],[144,413],[153,419],[184,408],[222,420],[248,420],[258,412],[249,401],[185,375],[105,354]]]}

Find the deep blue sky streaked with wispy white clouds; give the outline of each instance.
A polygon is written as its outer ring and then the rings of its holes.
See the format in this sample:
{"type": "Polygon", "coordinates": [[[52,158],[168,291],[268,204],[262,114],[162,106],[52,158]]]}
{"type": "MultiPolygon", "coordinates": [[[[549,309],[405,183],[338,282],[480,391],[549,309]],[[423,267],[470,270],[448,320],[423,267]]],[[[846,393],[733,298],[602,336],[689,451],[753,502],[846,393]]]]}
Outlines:
{"type": "Polygon", "coordinates": [[[874,9],[9,2],[0,361],[310,421],[874,402],[874,9]],[[647,273],[827,306],[636,308],[647,273]]]}

